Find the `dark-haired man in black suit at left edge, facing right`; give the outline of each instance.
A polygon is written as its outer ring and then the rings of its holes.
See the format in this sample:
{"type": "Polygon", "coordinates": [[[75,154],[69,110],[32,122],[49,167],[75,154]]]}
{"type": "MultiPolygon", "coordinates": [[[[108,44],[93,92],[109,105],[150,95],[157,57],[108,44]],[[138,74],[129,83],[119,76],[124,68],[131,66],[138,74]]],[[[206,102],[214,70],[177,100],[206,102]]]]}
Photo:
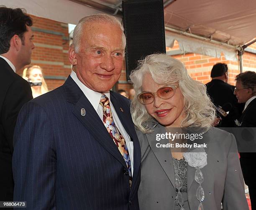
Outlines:
{"type": "Polygon", "coordinates": [[[0,6],[0,201],[13,200],[13,132],[21,107],[32,99],[28,82],[15,73],[31,63],[31,25],[20,8],[0,6]]]}

